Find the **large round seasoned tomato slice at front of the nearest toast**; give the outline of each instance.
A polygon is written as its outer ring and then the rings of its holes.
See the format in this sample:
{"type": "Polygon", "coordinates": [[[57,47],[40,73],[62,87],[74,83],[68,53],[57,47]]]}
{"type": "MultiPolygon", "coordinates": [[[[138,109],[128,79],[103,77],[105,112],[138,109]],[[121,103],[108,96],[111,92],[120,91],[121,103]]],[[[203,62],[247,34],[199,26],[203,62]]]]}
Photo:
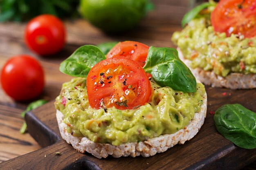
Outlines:
{"type": "Polygon", "coordinates": [[[94,65],[86,80],[92,108],[133,109],[148,102],[151,86],[143,68],[128,57],[113,57],[94,65]]]}

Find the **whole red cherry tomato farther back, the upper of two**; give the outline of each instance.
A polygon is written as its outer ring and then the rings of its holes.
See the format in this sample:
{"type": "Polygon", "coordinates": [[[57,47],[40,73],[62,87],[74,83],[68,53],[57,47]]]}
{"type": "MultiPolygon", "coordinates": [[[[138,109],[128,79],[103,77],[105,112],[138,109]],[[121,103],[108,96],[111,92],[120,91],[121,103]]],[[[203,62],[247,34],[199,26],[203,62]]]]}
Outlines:
{"type": "Polygon", "coordinates": [[[25,42],[29,49],[39,55],[52,55],[65,44],[65,26],[53,15],[39,15],[29,21],[25,28],[25,42]]]}

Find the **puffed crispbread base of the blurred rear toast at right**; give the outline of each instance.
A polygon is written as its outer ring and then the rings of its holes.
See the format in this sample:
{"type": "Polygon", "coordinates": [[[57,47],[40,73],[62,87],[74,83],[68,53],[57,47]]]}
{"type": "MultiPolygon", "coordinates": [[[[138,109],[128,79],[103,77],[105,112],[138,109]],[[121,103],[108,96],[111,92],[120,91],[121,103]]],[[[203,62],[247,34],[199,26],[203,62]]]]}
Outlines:
{"type": "Polygon", "coordinates": [[[191,68],[190,60],[185,59],[182,52],[177,48],[180,60],[188,66],[196,79],[205,85],[212,87],[225,87],[230,89],[256,88],[256,74],[230,73],[226,77],[216,75],[213,71],[204,71],[202,68],[191,68]]]}

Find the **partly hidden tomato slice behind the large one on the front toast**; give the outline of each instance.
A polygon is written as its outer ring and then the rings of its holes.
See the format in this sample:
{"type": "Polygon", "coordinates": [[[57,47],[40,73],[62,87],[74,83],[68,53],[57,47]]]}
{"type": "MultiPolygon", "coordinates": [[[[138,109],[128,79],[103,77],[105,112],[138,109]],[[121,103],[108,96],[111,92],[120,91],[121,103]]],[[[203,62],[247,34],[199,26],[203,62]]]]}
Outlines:
{"type": "Polygon", "coordinates": [[[117,43],[107,54],[107,58],[124,56],[138,62],[142,67],[146,63],[149,46],[135,41],[117,43]]]}

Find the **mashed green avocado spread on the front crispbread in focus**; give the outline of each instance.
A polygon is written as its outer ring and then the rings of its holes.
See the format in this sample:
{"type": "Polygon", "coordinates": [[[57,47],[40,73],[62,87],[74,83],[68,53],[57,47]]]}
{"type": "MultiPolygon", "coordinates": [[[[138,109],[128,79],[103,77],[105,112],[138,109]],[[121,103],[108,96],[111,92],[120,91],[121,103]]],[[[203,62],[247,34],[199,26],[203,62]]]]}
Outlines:
{"type": "Polygon", "coordinates": [[[184,93],[160,87],[153,79],[150,83],[152,93],[144,106],[132,110],[115,107],[104,110],[89,106],[86,78],[74,78],[63,84],[55,107],[64,115],[67,132],[116,146],[175,133],[189,124],[194,113],[200,110],[205,93],[203,84],[197,84],[195,93],[184,93]]]}

